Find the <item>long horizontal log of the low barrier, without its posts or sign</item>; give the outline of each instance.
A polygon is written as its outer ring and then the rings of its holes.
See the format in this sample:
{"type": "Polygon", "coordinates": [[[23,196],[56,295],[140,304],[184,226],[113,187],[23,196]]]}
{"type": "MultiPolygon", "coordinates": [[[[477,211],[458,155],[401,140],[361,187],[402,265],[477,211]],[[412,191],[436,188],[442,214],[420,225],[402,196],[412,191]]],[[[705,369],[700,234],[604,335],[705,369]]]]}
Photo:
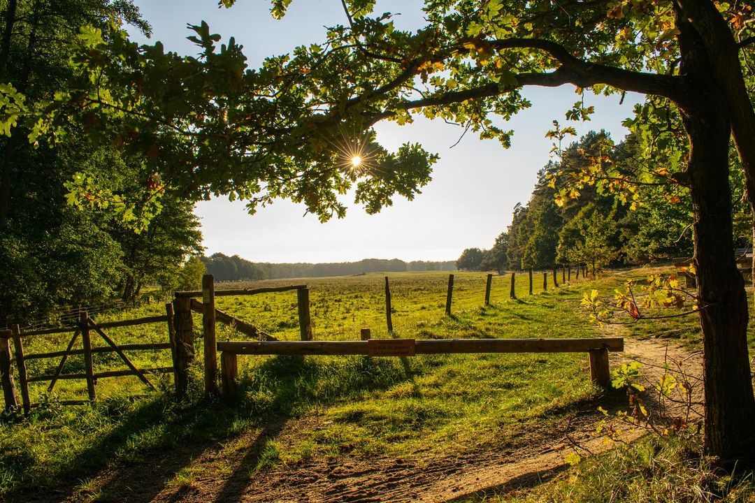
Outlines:
{"type": "MultiPolygon", "coordinates": [[[[368,341],[218,342],[218,351],[236,354],[368,354],[368,341]]],[[[624,339],[418,339],[415,354],[582,353],[624,351],[624,339]]]]}

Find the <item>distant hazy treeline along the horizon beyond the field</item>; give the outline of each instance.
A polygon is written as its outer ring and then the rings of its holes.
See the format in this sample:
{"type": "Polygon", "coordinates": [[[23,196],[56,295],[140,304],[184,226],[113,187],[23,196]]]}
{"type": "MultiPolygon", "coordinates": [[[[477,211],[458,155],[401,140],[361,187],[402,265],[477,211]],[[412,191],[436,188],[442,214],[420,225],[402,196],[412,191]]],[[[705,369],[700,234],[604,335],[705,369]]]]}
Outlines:
{"type": "Polygon", "coordinates": [[[238,255],[227,256],[223,253],[203,256],[202,262],[204,262],[208,273],[214,275],[216,281],[322,278],[360,275],[367,272],[454,271],[456,269],[454,261],[427,262],[418,260],[404,262],[399,259],[363,259],[359,262],[273,264],[270,262],[250,262],[238,255]]]}

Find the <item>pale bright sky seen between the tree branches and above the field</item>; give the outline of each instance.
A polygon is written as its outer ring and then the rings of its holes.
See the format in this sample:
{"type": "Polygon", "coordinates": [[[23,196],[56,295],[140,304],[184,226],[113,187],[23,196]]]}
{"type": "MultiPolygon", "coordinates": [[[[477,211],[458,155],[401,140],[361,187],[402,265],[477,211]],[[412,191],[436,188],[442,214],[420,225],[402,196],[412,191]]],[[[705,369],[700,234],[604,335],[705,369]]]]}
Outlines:
{"type": "MultiPolygon", "coordinates": [[[[196,47],[186,40],[190,35],[186,24],[205,20],[211,32],[224,40],[234,36],[244,45],[251,67],[297,45],[324,41],[325,26],[346,23],[341,0],[294,0],[282,20],[270,15],[267,0],[238,0],[230,9],[218,8],[217,0],[134,0],[134,4],[153,27],[149,43],[159,40],[168,51],[196,54],[196,47]]],[[[416,0],[378,0],[376,11],[400,13],[395,19],[399,29],[424,26],[421,2],[416,0]]],[[[129,31],[134,39],[147,41],[135,29],[129,31]]],[[[581,99],[572,86],[529,87],[523,94],[533,106],[504,123],[515,131],[510,149],[496,140],[479,140],[473,133],[458,142],[463,130],[439,120],[377,124],[377,140],[389,150],[409,141],[440,155],[433,181],[422,194],[414,201],[396,196],[393,206],[377,215],[368,215],[353,198],[344,219],[325,223],[290,201],[276,201],[253,216],[241,201],[221,197],[199,202],[195,212],[202,222],[205,254],[238,254],[253,262],[452,260],[465,248],[492,247],[510,224],[513,207],[526,203],[538,170],[550,160],[552,143],[545,138],[546,131],[554,119],[565,123],[565,111],[581,99]]],[[[627,94],[620,105],[618,96],[585,94],[585,104],[595,106],[595,115],[591,121],[569,125],[580,134],[605,129],[620,140],[627,133],[621,122],[640,100],[639,95],[627,94]]]]}

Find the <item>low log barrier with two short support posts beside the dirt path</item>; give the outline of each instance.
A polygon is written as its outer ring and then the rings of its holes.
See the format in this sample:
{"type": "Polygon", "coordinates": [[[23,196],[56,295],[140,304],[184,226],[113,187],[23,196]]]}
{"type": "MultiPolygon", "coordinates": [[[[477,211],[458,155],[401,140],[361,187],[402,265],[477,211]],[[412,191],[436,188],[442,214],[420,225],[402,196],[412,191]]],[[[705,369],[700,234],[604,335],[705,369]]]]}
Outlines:
{"type": "MultiPolygon", "coordinates": [[[[364,329],[369,330],[369,329],[364,329]]],[[[362,338],[365,331],[362,330],[362,338]]],[[[270,355],[369,355],[374,340],[359,341],[276,341],[276,342],[218,342],[223,362],[223,391],[236,390],[236,357],[239,354],[270,355]]],[[[411,345],[411,354],[469,354],[469,353],[589,353],[590,379],[596,384],[610,385],[609,351],[624,351],[621,337],[598,339],[385,339],[411,345]]],[[[401,356],[404,352],[384,354],[401,356]]]]}

